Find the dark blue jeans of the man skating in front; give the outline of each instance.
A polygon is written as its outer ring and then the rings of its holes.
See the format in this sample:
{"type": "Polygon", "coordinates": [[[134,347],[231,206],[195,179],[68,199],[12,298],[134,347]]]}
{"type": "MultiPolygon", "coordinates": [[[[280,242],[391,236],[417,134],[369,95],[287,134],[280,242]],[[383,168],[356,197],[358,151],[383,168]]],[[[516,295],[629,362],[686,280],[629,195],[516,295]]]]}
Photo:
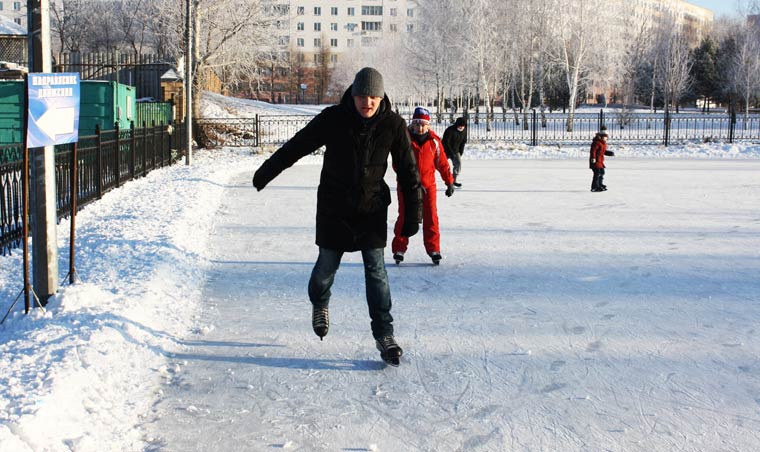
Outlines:
{"type": "MultiPolygon", "coordinates": [[[[314,306],[327,307],[330,303],[330,288],[342,257],[343,251],[319,248],[319,257],[309,279],[309,300],[314,306]]],[[[362,259],[372,336],[375,339],[392,336],[391,290],[388,286],[388,273],[385,271],[383,248],[362,250],[362,259]]]]}

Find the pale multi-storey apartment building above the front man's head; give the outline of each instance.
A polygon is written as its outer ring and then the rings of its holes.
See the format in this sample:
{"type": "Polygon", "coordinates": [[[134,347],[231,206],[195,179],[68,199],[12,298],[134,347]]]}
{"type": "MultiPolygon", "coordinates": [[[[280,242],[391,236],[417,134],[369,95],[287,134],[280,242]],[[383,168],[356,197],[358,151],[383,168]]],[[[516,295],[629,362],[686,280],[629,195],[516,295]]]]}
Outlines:
{"type": "Polygon", "coordinates": [[[271,7],[282,17],[280,44],[307,66],[326,54],[335,64],[357,49],[410,33],[418,15],[413,0],[273,0],[271,7]]]}

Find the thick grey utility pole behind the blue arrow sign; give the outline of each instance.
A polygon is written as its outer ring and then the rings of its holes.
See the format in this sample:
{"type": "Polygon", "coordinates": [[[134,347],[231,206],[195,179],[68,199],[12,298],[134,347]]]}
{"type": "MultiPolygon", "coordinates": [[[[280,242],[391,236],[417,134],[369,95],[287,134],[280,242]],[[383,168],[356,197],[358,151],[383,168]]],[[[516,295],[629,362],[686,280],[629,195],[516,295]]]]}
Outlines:
{"type": "MultiPolygon", "coordinates": [[[[29,72],[51,72],[50,2],[27,0],[29,72]]],[[[26,131],[24,131],[26,134],[26,131]]],[[[34,292],[44,305],[58,290],[54,146],[29,149],[32,161],[32,275],[34,292]]]]}

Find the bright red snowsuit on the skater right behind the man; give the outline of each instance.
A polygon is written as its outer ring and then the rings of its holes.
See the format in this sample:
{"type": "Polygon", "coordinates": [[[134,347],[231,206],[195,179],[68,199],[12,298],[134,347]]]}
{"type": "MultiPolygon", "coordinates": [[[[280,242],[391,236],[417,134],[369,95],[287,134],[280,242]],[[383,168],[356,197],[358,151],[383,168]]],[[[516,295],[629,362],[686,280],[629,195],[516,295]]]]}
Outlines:
{"type": "MultiPolygon", "coordinates": [[[[411,132],[410,132],[411,134],[411,132]]],[[[441,251],[441,234],[438,229],[438,208],[436,207],[435,172],[441,174],[446,185],[454,183],[454,176],[449,168],[449,160],[443,150],[443,144],[438,135],[431,129],[425,141],[420,145],[413,137],[412,150],[417,160],[417,168],[420,171],[420,185],[422,186],[422,238],[425,251],[428,254],[441,251]]],[[[409,237],[401,235],[404,226],[404,198],[400,190],[398,193],[398,219],[393,228],[393,242],[391,250],[394,253],[406,252],[409,245],[409,237]]]]}

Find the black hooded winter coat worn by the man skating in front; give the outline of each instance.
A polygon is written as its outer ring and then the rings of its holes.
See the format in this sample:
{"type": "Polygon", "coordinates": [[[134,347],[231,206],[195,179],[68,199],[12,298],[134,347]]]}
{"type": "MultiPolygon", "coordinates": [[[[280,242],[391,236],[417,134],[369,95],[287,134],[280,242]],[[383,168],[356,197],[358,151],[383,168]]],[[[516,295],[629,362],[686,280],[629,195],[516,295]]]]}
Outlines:
{"type": "Polygon", "coordinates": [[[325,108],[253,176],[261,190],[298,159],[325,146],[317,189],[316,244],[340,251],[384,248],[387,242],[390,190],[383,177],[388,155],[404,192],[409,221],[421,221],[420,176],[404,119],[391,110],[386,96],[372,118],[354,107],[351,87],[340,104],[325,108]]]}

